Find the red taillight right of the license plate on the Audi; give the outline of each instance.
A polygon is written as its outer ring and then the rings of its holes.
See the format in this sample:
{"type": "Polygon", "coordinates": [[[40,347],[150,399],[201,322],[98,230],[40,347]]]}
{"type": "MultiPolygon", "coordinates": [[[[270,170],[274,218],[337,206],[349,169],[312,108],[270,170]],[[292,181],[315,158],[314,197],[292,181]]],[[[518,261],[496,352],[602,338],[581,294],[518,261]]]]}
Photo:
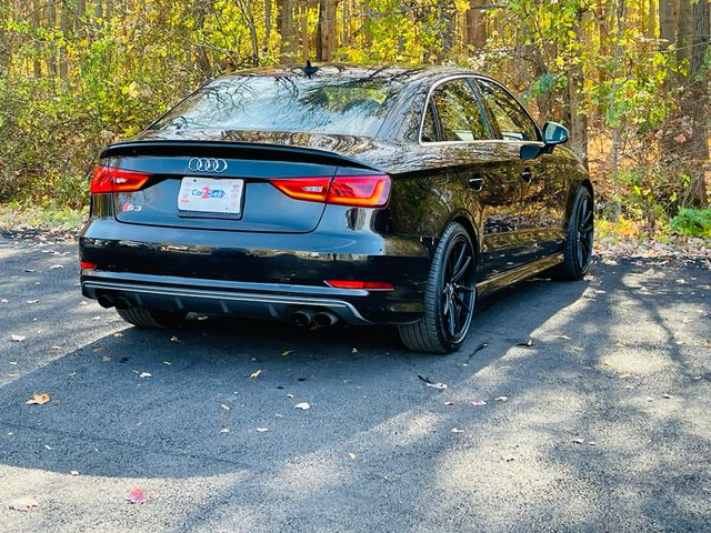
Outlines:
{"type": "Polygon", "coordinates": [[[270,183],[290,198],[311,202],[382,208],[390,200],[390,177],[385,174],[339,175],[333,181],[329,178],[291,178],[270,180],[270,183]]]}

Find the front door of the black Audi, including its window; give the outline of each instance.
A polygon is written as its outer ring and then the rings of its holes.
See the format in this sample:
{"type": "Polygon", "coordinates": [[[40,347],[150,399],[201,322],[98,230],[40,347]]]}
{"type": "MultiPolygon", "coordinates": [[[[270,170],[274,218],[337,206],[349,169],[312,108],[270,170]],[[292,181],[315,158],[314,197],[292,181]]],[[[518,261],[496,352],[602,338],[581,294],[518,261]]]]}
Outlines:
{"type": "MultiPolygon", "coordinates": [[[[542,145],[541,132],[523,105],[502,86],[477,78],[483,103],[498,137],[520,151],[523,144],[542,145]]],[[[521,260],[534,261],[555,252],[563,240],[567,180],[564,161],[543,153],[537,159],[520,158],[512,165],[521,184],[521,260]]]]}

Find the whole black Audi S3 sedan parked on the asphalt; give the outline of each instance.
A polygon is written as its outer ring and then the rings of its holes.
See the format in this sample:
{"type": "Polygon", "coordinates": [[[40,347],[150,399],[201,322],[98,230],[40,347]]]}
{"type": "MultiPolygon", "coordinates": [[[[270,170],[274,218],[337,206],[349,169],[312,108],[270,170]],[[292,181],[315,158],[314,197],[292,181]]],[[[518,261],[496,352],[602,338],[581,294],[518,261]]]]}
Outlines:
{"type": "Polygon", "coordinates": [[[101,153],[81,290],[143,328],[389,323],[448,353],[478,296],[585,274],[592,185],[567,139],[462,69],[222,77],[101,153]]]}

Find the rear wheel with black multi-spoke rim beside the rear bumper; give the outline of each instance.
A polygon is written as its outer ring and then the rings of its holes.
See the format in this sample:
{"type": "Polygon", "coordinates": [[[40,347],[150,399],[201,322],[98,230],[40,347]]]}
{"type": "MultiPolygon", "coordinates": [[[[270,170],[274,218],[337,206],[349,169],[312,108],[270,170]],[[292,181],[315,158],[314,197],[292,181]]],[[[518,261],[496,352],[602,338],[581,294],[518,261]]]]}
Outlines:
{"type": "Polygon", "coordinates": [[[414,352],[451,353],[469,331],[477,301],[477,255],[461,224],[447,227],[434,251],[424,290],[424,316],[398,325],[403,344],[414,352]]]}

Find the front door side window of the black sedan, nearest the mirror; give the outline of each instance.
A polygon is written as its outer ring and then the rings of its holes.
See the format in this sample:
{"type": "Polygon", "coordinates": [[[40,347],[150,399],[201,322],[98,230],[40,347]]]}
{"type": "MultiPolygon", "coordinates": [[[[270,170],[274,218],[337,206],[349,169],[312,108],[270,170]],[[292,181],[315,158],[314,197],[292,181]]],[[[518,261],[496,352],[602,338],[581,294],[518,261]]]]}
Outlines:
{"type": "Polygon", "coordinates": [[[521,104],[498,83],[477,80],[487,108],[499,124],[504,139],[512,141],[539,141],[538,129],[521,104]]]}

